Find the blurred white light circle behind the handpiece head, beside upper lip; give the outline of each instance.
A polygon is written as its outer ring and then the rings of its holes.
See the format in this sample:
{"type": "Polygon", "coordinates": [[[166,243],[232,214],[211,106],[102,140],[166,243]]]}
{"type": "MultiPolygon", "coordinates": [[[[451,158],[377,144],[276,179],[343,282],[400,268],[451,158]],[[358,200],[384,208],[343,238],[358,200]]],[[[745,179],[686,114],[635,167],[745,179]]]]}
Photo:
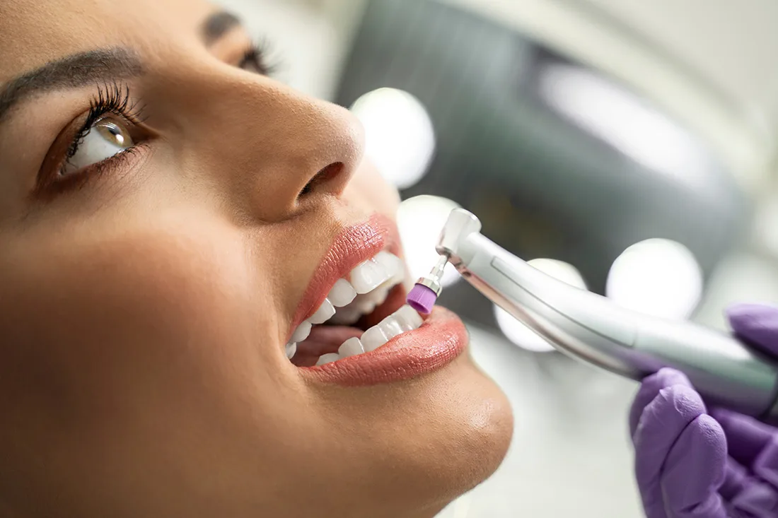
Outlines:
{"type": "MultiPolygon", "coordinates": [[[[449,213],[458,208],[455,201],[440,196],[415,196],[400,204],[397,214],[400,239],[405,250],[405,261],[412,277],[427,275],[440,255],[435,251],[440,230],[449,213]]],[[[460,278],[459,272],[446,265],[441,284],[445,287],[460,278]]]]}

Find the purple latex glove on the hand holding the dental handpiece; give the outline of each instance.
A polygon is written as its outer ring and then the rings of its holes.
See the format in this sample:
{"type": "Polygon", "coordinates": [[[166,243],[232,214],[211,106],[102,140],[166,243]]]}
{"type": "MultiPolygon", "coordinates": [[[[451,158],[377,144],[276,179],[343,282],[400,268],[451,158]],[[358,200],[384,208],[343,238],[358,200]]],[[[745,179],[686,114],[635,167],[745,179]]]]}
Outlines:
{"type": "MultiPolygon", "coordinates": [[[[778,307],[745,304],[727,316],[745,343],[778,356],[778,307]]],[[[731,411],[709,414],[673,369],[643,380],[629,429],[648,518],[778,517],[778,429],[731,411]]]]}

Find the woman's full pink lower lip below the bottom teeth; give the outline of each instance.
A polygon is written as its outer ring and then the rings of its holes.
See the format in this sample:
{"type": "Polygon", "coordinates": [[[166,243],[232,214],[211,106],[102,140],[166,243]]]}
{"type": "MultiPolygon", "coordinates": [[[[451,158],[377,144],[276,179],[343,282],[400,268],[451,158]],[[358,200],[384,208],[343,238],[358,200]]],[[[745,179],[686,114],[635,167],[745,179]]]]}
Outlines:
{"type": "Polygon", "coordinates": [[[442,369],[468,346],[468,332],[449,310],[436,307],[414,331],[400,334],[375,351],[322,366],[300,367],[303,376],[348,387],[409,380],[442,369]]]}

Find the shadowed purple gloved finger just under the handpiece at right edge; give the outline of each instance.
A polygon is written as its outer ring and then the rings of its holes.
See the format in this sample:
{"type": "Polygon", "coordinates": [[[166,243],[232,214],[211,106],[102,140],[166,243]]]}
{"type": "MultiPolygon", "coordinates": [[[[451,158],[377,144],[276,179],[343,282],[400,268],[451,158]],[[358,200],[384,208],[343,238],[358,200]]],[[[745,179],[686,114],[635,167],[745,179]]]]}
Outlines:
{"type": "Polygon", "coordinates": [[[712,412],[729,443],[729,455],[778,488],[778,430],[732,411],[712,412]]]}

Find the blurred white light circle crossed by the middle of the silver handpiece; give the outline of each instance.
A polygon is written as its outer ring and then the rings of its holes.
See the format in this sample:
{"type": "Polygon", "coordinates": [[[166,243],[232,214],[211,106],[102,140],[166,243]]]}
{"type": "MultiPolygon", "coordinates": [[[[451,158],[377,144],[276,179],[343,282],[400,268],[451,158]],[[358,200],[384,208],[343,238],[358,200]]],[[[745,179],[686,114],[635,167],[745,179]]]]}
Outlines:
{"type": "MultiPolygon", "coordinates": [[[[580,275],[580,271],[572,264],[545,258],[533,259],[532,261],[527,261],[527,263],[562,282],[566,282],[576,288],[586,289],[584,277],[580,275]]],[[[542,338],[519,320],[513,318],[513,315],[503,310],[503,308],[494,306],[494,316],[500,331],[503,331],[506,338],[520,348],[531,352],[550,352],[554,350],[554,347],[545,338],[542,338]]]]}

